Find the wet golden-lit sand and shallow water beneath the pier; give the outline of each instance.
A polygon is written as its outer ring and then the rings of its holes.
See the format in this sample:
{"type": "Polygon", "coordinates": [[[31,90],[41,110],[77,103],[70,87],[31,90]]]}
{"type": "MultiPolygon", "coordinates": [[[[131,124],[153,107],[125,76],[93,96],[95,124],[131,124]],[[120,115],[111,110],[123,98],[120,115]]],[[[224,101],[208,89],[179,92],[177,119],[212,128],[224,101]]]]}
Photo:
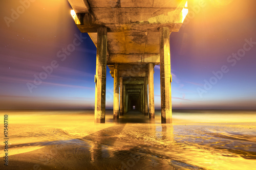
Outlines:
{"type": "Polygon", "coordinates": [[[108,110],[105,124],[94,124],[93,110],[5,114],[1,169],[256,169],[255,111],[177,110],[172,125],[161,124],[160,111],[113,122],[108,110]]]}

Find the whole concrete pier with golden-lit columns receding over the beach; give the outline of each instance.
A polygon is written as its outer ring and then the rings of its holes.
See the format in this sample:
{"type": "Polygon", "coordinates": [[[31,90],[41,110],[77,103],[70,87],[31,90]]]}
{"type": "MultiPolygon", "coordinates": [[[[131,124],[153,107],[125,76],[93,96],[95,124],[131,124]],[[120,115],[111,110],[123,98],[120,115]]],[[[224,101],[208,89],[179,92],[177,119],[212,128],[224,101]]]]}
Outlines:
{"type": "Polygon", "coordinates": [[[68,1],[76,26],[97,47],[95,121],[105,122],[106,65],[114,78],[113,118],[136,109],[154,120],[154,67],[160,64],[162,123],[172,123],[169,35],[181,28],[187,1],[68,1]]]}

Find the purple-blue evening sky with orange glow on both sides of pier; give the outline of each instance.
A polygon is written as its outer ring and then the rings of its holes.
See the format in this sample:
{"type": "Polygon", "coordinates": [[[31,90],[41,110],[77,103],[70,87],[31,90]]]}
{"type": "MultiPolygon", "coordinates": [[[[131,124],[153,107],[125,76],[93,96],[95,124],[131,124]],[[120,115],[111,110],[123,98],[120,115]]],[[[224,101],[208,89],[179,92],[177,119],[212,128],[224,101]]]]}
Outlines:
{"type": "MultiPolygon", "coordinates": [[[[182,28],[170,34],[173,109],[256,109],[255,5],[188,1],[182,28]]],[[[1,1],[0,8],[0,109],[94,109],[96,47],[76,27],[68,1],[1,1]]],[[[114,80],[106,72],[111,109],[114,80]]]]}

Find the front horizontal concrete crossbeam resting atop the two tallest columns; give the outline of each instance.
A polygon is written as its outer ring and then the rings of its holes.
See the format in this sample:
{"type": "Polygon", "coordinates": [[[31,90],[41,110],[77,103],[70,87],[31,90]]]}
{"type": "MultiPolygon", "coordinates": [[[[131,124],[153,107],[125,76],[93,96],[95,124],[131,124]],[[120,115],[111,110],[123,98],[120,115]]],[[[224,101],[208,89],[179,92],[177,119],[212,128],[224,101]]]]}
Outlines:
{"type": "MultiPolygon", "coordinates": [[[[77,27],[83,33],[96,32],[96,28],[100,25],[108,26],[109,32],[137,32],[138,30],[141,32],[157,32],[159,25],[165,25],[171,31],[178,32],[182,26],[184,17],[182,13],[184,4],[185,1],[179,4],[179,7],[157,9],[90,8],[90,11],[92,11],[89,13],[90,15],[84,15],[81,18],[83,25],[77,25],[77,27]],[[125,17],[122,19],[113,19],[119,18],[120,16],[125,17]]],[[[78,12],[76,11],[76,13],[78,12]]]]}

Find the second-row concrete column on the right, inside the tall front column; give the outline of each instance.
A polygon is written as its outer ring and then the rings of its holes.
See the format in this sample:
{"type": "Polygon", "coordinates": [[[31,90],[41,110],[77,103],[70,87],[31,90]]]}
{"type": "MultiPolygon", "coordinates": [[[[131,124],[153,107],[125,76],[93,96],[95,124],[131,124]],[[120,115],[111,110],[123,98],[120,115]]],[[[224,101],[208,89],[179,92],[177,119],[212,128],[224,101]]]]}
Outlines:
{"type": "Polygon", "coordinates": [[[155,118],[155,102],[154,102],[154,66],[148,63],[148,100],[150,107],[150,118],[155,118]]]}

